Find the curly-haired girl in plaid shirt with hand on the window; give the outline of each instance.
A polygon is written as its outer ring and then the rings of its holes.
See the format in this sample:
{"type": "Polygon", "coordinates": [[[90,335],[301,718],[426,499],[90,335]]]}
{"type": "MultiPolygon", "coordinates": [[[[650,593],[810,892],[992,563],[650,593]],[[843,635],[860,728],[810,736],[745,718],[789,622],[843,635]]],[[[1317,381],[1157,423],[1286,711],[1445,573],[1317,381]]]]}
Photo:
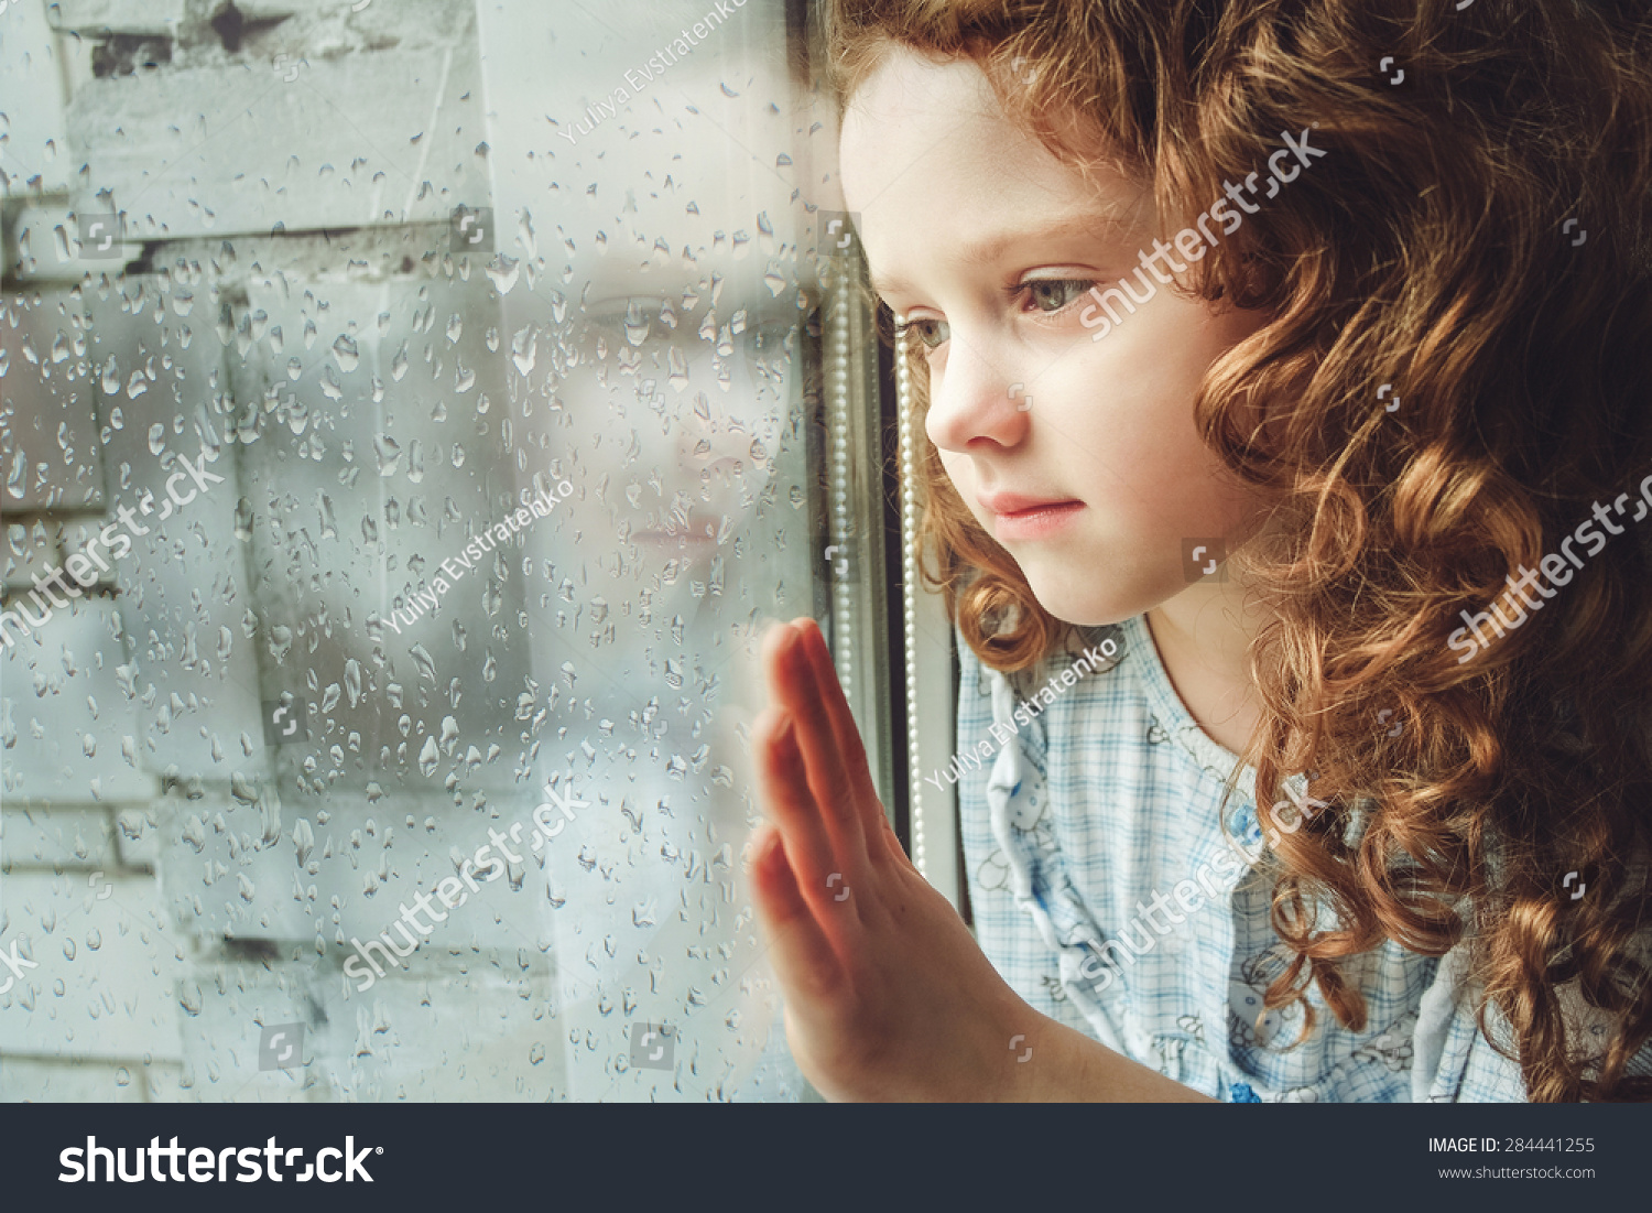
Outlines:
{"type": "Polygon", "coordinates": [[[1642,8],[831,5],[993,757],[976,944],[819,631],[768,641],[752,871],[824,1094],[1652,1096],[1642,8]]]}

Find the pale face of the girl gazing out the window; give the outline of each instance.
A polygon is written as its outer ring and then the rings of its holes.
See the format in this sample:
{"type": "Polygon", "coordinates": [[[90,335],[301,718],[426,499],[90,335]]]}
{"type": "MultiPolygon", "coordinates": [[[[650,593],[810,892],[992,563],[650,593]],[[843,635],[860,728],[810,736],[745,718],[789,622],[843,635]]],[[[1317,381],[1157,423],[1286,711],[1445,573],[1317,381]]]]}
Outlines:
{"type": "Polygon", "coordinates": [[[1092,342],[1089,288],[1153,254],[1151,193],[1064,167],[971,63],[892,51],[849,106],[841,164],[874,286],[930,347],[928,436],[1039,603],[1099,625],[1211,592],[1183,540],[1237,542],[1257,502],[1199,441],[1193,398],[1262,317],[1214,316],[1143,269],[1153,296],[1115,304],[1092,342]]]}

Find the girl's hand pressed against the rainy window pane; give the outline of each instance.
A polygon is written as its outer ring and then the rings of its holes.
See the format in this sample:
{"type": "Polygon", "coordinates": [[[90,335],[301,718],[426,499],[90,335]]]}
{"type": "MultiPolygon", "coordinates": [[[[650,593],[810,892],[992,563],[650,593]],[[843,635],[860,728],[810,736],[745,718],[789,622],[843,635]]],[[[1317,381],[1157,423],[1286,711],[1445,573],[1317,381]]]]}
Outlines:
{"type": "Polygon", "coordinates": [[[819,628],[776,626],[763,661],[770,825],[750,854],[791,1054],[828,1099],[1031,1094],[1039,1039],[1066,1030],[1009,988],[900,849],[819,628]]]}

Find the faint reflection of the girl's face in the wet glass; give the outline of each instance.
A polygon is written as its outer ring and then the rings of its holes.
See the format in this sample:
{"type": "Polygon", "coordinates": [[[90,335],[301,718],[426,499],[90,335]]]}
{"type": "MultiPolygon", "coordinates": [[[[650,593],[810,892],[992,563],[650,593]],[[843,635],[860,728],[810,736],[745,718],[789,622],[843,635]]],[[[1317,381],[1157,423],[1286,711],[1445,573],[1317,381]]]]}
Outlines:
{"type": "Polygon", "coordinates": [[[775,235],[803,207],[765,167],[791,145],[791,84],[758,68],[722,102],[715,81],[686,61],[659,86],[669,122],[643,101],[643,121],[578,149],[552,140],[553,183],[520,203],[534,297],[507,296],[506,319],[537,334],[527,390],[550,416],[550,479],[575,489],[542,550],[560,595],[532,598],[552,611],[603,598],[620,633],[628,613],[657,630],[712,611],[740,557],[775,542],[748,532],[775,492],[805,319],[796,250],[775,235]]]}

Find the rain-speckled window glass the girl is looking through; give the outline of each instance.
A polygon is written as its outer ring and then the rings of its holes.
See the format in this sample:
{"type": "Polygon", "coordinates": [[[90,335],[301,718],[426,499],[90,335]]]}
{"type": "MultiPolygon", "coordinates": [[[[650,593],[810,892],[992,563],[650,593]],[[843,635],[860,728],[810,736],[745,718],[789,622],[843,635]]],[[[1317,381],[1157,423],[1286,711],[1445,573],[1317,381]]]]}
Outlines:
{"type": "Polygon", "coordinates": [[[829,573],[783,7],[172,8],[3,50],[68,96],[5,149],[5,1097],[803,1097],[740,873],[829,573]]]}

